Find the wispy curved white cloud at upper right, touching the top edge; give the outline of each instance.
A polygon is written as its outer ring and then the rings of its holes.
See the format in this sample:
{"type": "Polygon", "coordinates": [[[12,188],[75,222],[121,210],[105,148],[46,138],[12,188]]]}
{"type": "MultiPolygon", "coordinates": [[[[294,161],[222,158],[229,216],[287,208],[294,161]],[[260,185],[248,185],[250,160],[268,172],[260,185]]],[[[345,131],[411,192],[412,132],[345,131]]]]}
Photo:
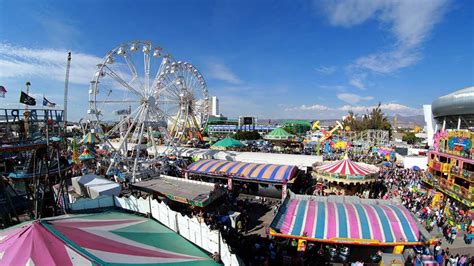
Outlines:
{"type": "Polygon", "coordinates": [[[358,58],[355,66],[388,74],[417,63],[421,45],[446,12],[448,0],[331,0],[323,10],[334,26],[352,27],[375,19],[395,42],[385,51],[358,58]]]}

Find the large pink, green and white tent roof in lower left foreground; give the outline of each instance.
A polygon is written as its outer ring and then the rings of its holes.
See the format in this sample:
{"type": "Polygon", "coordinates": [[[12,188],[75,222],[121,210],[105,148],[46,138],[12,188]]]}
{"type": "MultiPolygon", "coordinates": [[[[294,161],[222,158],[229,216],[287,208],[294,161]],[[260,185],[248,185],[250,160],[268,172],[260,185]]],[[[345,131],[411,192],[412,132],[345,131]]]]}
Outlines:
{"type": "Polygon", "coordinates": [[[59,216],[0,231],[5,265],[213,265],[151,219],[120,212],[59,216]]]}

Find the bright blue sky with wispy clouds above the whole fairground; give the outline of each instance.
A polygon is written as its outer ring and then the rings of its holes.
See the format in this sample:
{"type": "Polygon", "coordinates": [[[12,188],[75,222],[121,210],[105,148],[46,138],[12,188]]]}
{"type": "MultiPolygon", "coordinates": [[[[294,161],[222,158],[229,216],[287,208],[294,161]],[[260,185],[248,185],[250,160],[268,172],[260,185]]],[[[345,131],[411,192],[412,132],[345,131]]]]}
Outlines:
{"type": "Polygon", "coordinates": [[[95,65],[139,39],[193,63],[231,117],[340,118],[379,101],[388,114],[421,114],[474,85],[473,14],[467,0],[0,0],[0,105],[17,106],[27,80],[61,104],[71,50],[78,120],[95,65]]]}

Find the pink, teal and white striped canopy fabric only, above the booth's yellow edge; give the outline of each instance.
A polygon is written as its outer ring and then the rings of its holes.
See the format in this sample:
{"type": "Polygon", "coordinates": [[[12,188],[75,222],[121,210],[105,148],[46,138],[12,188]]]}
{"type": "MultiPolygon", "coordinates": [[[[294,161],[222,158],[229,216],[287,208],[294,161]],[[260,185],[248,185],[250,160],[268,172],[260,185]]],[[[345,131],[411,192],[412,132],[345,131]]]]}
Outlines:
{"type": "Polygon", "coordinates": [[[270,227],[319,240],[419,242],[416,222],[401,205],[335,203],[287,198],[270,227]]]}

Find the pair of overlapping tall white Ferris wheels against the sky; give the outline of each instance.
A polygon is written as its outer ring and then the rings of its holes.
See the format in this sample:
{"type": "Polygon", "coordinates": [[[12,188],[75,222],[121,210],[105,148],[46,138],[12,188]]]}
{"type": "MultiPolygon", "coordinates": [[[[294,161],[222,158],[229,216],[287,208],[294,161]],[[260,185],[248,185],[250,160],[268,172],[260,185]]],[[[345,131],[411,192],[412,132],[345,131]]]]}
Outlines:
{"type": "Polygon", "coordinates": [[[158,145],[173,152],[200,139],[208,105],[206,83],[193,65],[176,62],[149,41],[112,49],[97,65],[88,110],[91,127],[111,148],[107,172],[120,169],[134,181],[143,165],[156,160],[158,145]]]}

